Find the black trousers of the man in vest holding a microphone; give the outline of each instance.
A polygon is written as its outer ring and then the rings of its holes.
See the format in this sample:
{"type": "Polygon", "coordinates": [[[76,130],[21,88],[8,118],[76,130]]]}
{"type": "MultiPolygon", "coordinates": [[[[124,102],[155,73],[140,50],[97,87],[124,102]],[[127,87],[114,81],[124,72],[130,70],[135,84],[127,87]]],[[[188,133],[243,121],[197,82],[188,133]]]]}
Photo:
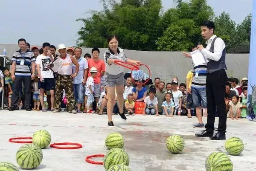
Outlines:
{"type": "Polygon", "coordinates": [[[219,70],[211,74],[207,73],[206,96],[207,96],[207,124],[205,128],[209,132],[214,130],[216,106],[218,107],[219,124],[218,131],[225,132],[227,128],[227,111],[225,104],[225,87],[227,83],[227,73],[219,70]]]}

